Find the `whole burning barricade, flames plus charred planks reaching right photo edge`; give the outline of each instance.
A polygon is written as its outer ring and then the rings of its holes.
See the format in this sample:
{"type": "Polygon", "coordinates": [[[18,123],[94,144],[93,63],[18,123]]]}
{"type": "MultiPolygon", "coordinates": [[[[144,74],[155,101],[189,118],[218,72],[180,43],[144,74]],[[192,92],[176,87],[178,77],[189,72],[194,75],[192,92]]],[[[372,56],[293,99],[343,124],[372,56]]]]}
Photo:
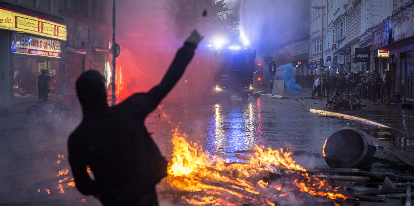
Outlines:
{"type": "MultiPolygon", "coordinates": [[[[412,183],[391,181],[413,182],[414,178],[410,176],[357,168],[305,169],[296,164],[291,152],[259,146],[254,148],[250,157],[235,156],[244,162],[229,163],[208,155],[200,145],[187,142],[177,129],[172,142],[174,148],[168,176],[158,192],[173,203],[349,206],[358,205],[357,201],[384,202],[385,195],[389,198],[406,197],[409,200],[406,203],[411,201],[412,183]]],[[[325,141],[322,151],[325,159],[327,142],[329,140],[325,141]]]]}

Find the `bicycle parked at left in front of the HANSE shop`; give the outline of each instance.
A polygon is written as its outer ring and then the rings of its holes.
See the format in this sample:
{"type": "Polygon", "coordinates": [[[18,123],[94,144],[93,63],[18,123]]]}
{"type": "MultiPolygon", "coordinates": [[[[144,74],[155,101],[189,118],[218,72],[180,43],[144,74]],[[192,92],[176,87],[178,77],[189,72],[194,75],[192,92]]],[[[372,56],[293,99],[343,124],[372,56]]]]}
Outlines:
{"type": "Polygon", "coordinates": [[[67,123],[76,123],[76,114],[67,108],[60,107],[60,95],[52,102],[38,102],[27,108],[27,114],[34,122],[42,123],[51,117],[59,117],[67,123]]]}

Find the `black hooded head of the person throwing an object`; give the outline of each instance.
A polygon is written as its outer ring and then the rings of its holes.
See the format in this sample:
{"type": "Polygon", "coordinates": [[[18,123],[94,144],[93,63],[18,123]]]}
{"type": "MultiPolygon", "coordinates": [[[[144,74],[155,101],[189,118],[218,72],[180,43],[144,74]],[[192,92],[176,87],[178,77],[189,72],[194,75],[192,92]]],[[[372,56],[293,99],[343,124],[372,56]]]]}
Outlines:
{"type": "Polygon", "coordinates": [[[76,81],[76,93],[83,113],[101,111],[107,104],[104,77],[95,71],[82,73],[76,81]]]}

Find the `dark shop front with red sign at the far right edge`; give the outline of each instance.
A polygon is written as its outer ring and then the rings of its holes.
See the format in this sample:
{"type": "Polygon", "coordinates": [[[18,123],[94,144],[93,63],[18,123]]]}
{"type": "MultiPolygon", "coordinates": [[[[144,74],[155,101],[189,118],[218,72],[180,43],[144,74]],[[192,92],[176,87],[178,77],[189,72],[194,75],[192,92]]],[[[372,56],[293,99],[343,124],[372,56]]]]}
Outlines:
{"type": "MultiPolygon", "coordinates": [[[[383,75],[389,70],[393,79],[393,100],[414,103],[414,17],[397,17],[372,33],[371,50],[375,70],[383,75]],[[374,39],[375,38],[375,39],[374,39]]],[[[400,103],[400,102],[398,102],[400,103]]]]}

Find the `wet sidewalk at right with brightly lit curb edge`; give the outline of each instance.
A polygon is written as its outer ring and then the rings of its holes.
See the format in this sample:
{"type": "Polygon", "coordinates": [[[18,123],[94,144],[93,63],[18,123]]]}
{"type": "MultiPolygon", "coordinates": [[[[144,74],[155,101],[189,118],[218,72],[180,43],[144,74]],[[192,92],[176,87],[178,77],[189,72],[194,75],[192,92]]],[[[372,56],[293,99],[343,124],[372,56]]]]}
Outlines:
{"type": "Polygon", "coordinates": [[[367,133],[367,140],[372,144],[414,166],[414,110],[402,109],[393,104],[371,105],[369,100],[362,100],[361,104],[366,106],[354,110],[329,110],[325,107],[326,98],[303,98],[300,101],[309,107],[310,112],[316,113],[315,115],[371,125],[357,129],[367,133]]]}

